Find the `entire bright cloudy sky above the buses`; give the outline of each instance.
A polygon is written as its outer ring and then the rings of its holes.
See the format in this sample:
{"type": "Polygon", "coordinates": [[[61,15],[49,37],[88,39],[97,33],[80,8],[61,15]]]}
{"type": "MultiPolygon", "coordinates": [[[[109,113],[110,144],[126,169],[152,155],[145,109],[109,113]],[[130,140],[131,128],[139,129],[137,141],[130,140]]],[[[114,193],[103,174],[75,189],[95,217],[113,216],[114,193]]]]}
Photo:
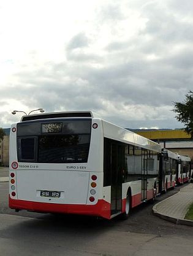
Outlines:
{"type": "Polygon", "coordinates": [[[36,108],[183,127],[192,41],[190,0],[0,0],[0,127],[36,108]]]}

